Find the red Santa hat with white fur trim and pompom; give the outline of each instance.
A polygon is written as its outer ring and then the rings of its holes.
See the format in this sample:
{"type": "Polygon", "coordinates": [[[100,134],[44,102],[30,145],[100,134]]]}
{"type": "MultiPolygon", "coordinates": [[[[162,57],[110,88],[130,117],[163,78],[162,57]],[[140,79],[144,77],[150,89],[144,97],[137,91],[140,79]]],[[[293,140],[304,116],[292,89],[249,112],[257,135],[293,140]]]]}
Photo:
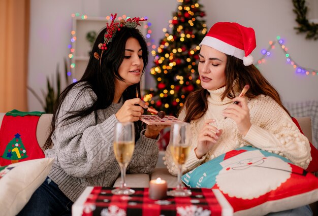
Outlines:
{"type": "Polygon", "coordinates": [[[248,66],[254,60],[250,53],[256,47],[255,31],[235,22],[217,22],[205,35],[201,45],[242,59],[248,66]]]}

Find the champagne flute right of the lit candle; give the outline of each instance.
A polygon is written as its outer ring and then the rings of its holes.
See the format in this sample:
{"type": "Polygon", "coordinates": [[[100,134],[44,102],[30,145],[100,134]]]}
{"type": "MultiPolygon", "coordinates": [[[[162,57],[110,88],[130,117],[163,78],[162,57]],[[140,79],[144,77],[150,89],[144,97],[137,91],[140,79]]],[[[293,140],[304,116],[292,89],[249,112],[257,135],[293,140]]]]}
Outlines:
{"type": "Polygon", "coordinates": [[[177,188],[169,192],[174,197],[190,196],[189,190],[184,190],[181,182],[182,165],[185,163],[190,152],[191,128],[186,122],[173,123],[170,127],[170,152],[175,164],[178,166],[178,185],[177,188]]]}

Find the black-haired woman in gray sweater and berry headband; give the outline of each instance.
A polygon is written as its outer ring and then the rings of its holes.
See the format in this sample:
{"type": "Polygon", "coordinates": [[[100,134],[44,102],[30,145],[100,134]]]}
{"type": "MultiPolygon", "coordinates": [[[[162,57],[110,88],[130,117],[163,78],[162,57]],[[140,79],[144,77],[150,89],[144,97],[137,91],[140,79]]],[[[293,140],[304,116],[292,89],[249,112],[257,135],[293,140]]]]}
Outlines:
{"type": "Polygon", "coordinates": [[[146,42],[136,28],[144,19],[115,18],[99,33],[83,77],[59,97],[45,143],[46,157],[55,162],[19,215],[71,215],[71,205],[87,186],[112,187],[120,174],[112,147],[117,122],[135,124],[128,171],[150,173],[156,165],[156,142],[165,126],[145,129],[139,117],[147,106],[136,97],[148,62],[146,42]]]}

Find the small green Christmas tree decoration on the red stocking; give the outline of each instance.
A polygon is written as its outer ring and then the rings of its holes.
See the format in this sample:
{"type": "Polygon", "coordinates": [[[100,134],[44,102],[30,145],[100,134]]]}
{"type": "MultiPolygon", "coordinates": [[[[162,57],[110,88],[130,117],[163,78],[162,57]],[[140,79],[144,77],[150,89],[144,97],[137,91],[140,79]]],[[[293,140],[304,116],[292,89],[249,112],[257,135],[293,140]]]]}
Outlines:
{"type": "Polygon", "coordinates": [[[19,133],[14,135],[14,138],[8,143],[2,155],[4,159],[11,160],[12,163],[17,163],[19,160],[28,157],[20,136],[19,133]]]}

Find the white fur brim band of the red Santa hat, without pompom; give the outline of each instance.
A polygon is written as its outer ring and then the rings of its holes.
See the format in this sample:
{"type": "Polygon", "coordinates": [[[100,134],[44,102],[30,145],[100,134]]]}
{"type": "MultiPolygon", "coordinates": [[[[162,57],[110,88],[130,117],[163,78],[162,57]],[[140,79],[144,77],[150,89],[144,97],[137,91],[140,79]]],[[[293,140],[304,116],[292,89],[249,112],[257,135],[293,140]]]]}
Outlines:
{"type": "Polygon", "coordinates": [[[243,59],[245,55],[244,50],[238,49],[230,44],[227,44],[221,40],[218,40],[216,38],[212,38],[209,36],[206,36],[203,38],[199,46],[201,45],[212,47],[222,53],[235,56],[236,58],[239,58],[239,59],[243,59]]]}

